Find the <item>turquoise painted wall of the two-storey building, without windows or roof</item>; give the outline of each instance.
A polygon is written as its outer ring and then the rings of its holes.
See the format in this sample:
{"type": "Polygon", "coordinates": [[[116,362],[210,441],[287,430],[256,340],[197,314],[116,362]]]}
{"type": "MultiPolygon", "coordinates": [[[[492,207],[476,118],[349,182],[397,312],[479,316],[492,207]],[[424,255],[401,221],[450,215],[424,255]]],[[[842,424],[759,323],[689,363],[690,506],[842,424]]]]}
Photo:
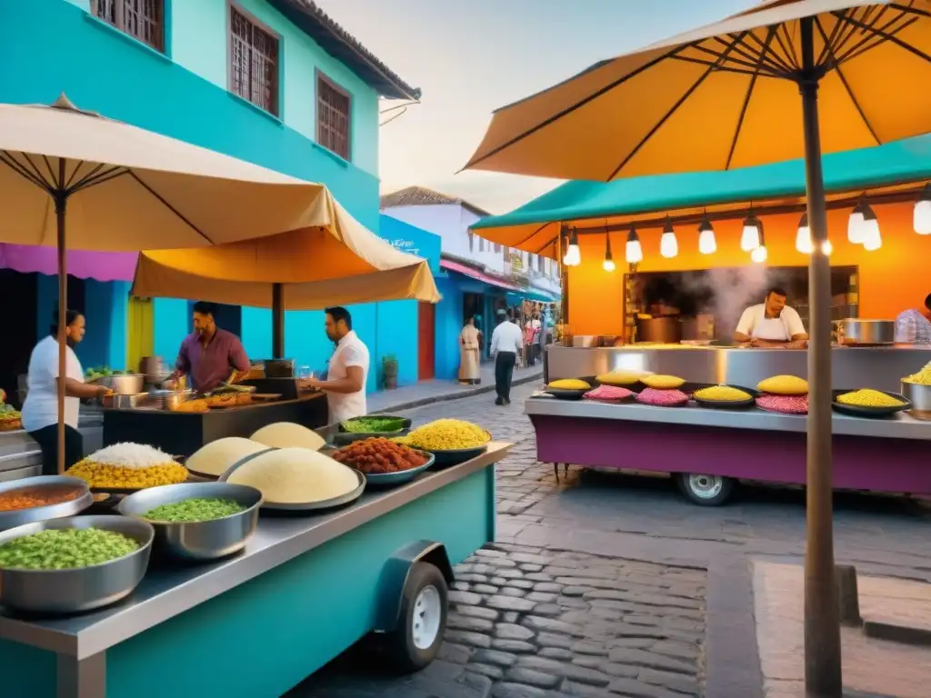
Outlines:
{"type": "MultiPolygon", "coordinates": [[[[50,103],[64,92],[82,109],[323,182],[358,221],[377,232],[376,91],[263,0],[237,0],[236,5],[280,36],[280,118],[226,89],[227,0],[166,0],[164,55],[91,16],[89,0],[0,2],[0,26],[17,28],[0,41],[0,101],[50,103]],[[352,96],[351,162],[313,141],[317,71],[352,96]]],[[[54,279],[49,281],[54,284],[54,279]]],[[[104,339],[84,348],[82,361],[122,367],[127,289],[119,284],[106,285],[108,290],[96,289],[97,282],[88,284],[99,306],[88,311],[88,324],[101,333],[105,320],[111,324],[104,339]]],[[[54,300],[48,305],[47,299],[54,296],[47,289],[40,291],[40,317],[50,315],[54,300]]],[[[383,303],[376,312],[368,304],[356,306],[353,313],[359,334],[369,343],[373,367],[380,366],[379,357],[385,353],[399,353],[398,328],[411,329],[413,358],[398,356],[398,383],[415,381],[416,305],[383,303]],[[378,349],[376,355],[376,344],[385,352],[378,349]]],[[[187,304],[156,299],[154,315],[155,353],[173,360],[190,331],[187,304]]],[[[289,356],[299,364],[324,363],[331,347],[322,326],[320,313],[289,313],[289,356]]],[[[244,309],[242,333],[250,356],[270,355],[268,311],[244,309]]],[[[373,370],[369,388],[374,389],[377,381],[373,370]]]]}

